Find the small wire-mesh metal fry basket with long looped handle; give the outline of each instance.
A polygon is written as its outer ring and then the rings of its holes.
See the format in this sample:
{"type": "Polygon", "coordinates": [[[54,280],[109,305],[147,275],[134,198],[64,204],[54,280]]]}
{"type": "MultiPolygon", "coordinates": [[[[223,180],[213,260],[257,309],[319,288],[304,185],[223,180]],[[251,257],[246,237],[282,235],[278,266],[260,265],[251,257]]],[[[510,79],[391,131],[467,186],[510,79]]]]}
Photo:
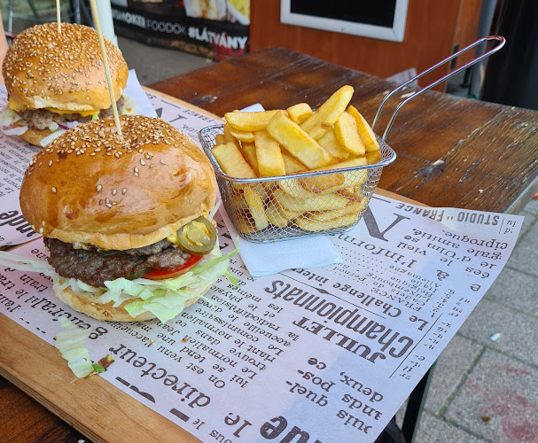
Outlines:
{"type": "Polygon", "coordinates": [[[448,77],[500,50],[503,47],[504,38],[498,35],[484,37],[408,82],[402,83],[386,95],[379,105],[372,129],[378,122],[379,114],[387,99],[394,93],[452,58],[488,40],[496,40],[500,43],[492,50],[474,58],[424,89],[418,89],[413,94],[404,96],[406,98],[395,108],[383,136],[377,136],[380,149],[378,161],[374,164],[292,175],[239,179],[226,175],[211,152],[215,145],[215,136],[223,134],[223,125],[202,129],[199,132],[200,143],[214,167],[222,203],[231,222],[238,229],[239,235],[251,242],[268,243],[293,237],[336,234],[352,229],[363,217],[370,198],[378,186],[383,167],[396,158],[396,153],[385,140],[398,111],[413,97],[417,97],[425,90],[433,88],[448,77]]]}

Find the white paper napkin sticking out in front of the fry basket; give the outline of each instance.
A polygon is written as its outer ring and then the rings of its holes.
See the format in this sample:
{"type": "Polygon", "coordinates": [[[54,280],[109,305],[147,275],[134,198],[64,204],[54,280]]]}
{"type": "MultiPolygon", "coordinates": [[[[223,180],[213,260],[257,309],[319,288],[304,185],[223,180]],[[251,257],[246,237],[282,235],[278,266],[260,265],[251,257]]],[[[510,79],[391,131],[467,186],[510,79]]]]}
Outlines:
{"type": "Polygon", "coordinates": [[[342,258],[327,237],[299,237],[274,243],[253,243],[239,238],[237,229],[221,206],[222,219],[251,276],[269,276],[292,268],[318,268],[341,263],[342,258]],[[237,243],[238,242],[238,243],[237,243]]]}

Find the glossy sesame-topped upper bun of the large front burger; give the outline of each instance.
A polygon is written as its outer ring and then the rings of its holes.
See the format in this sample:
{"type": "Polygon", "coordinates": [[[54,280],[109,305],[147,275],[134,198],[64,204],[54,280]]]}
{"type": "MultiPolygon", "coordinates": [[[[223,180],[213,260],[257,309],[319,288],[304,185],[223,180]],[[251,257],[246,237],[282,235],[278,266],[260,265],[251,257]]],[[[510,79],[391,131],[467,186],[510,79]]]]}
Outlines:
{"type": "Polygon", "coordinates": [[[140,115],[69,129],[27,167],[22,214],[44,237],[125,250],[152,245],[207,215],[214,171],[189,136],[140,115]]]}

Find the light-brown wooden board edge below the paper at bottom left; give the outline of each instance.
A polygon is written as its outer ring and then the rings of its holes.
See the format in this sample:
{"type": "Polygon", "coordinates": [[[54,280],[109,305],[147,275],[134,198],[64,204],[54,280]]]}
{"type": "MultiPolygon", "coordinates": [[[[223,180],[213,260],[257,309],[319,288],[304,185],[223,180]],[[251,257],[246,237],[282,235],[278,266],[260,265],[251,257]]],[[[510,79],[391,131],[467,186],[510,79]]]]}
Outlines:
{"type": "MultiPolygon", "coordinates": [[[[156,437],[159,441],[199,441],[103,377],[74,377],[56,348],[2,314],[0,336],[0,375],[94,442],[154,441],[156,437]]],[[[19,408],[25,406],[19,403],[19,408]]],[[[33,438],[26,441],[35,439],[39,433],[39,426],[32,425],[35,419],[8,411],[10,420],[30,426],[28,438],[33,438]]],[[[15,439],[20,434],[8,429],[3,435],[15,439]]]]}

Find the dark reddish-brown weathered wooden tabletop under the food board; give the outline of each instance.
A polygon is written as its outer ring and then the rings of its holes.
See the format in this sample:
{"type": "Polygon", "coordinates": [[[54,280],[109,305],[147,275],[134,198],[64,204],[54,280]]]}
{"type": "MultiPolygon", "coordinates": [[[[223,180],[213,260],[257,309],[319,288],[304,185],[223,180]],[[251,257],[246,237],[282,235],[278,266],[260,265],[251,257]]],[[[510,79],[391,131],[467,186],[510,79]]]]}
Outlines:
{"type": "MultiPolygon", "coordinates": [[[[222,116],[254,103],[316,108],[344,84],[355,88],[352,104],[370,122],[394,88],[284,49],[231,58],[151,88],[222,116]]],[[[376,132],[398,101],[389,102],[376,132]]],[[[538,191],[537,128],[536,111],[427,91],[396,117],[386,141],[398,158],[384,168],[379,187],[428,206],[518,213],[538,191]]],[[[3,442],[89,441],[2,377],[0,436],[3,442]]]]}

